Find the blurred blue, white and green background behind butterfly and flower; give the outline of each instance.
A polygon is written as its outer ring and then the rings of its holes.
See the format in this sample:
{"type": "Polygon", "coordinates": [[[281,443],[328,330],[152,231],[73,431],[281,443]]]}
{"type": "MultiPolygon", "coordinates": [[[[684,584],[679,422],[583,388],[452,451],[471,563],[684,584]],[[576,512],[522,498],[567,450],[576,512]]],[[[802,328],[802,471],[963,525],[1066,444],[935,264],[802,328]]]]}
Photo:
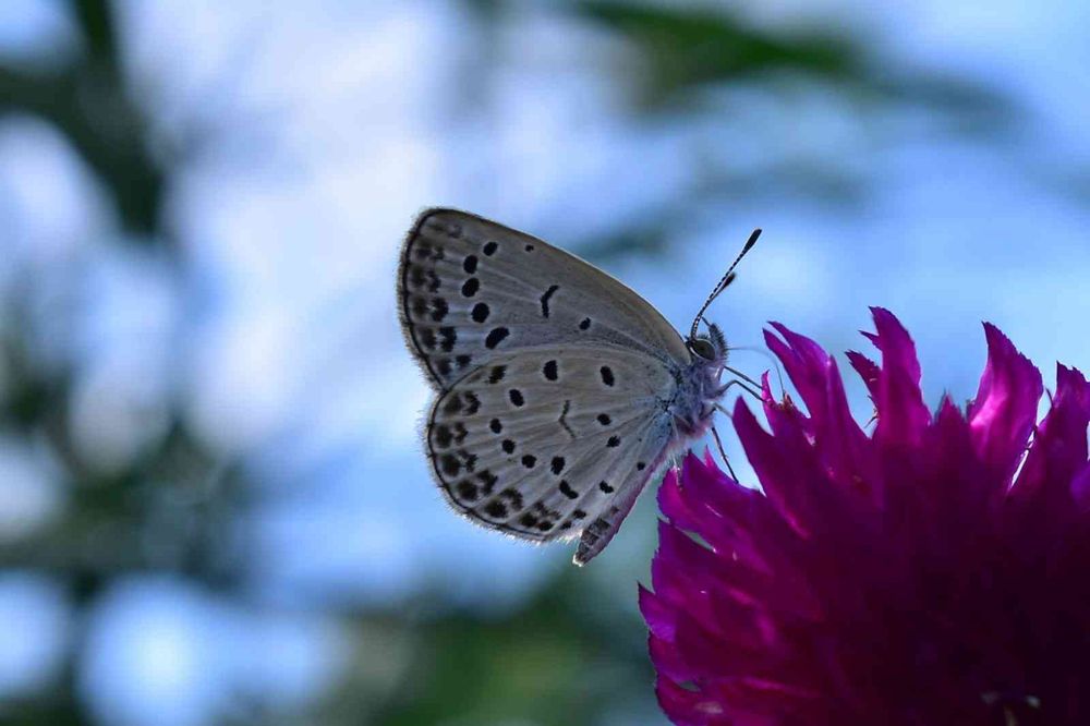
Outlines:
{"type": "Polygon", "coordinates": [[[1051,383],[1090,365],[1090,5],[976,5],[4,0],[0,721],[663,724],[653,496],[579,571],[446,510],[400,241],[470,209],[685,326],[761,226],[732,343],[880,304],[932,403],[982,319],[1051,383]]]}

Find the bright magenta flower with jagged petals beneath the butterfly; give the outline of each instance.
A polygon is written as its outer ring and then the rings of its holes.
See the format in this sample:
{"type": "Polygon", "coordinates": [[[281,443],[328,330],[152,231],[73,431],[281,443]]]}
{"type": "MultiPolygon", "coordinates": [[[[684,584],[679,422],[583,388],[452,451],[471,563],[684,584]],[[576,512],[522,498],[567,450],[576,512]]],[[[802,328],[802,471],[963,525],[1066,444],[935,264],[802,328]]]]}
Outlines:
{"type": "Polygon", "coordinates": [[[690,453],[659,493],[666,521],[641,589],[675,724],[1090,724],[1090,385],[1041,374],[991,325],[977,398],[932,414],[916,349],[873,311],[859,353],[876,423],[848,412],[834,360],[766,334],[789,398],[739,401],[763,492],[690,453]],[[690,536],[695,535],[695,536],[690,536]]]}

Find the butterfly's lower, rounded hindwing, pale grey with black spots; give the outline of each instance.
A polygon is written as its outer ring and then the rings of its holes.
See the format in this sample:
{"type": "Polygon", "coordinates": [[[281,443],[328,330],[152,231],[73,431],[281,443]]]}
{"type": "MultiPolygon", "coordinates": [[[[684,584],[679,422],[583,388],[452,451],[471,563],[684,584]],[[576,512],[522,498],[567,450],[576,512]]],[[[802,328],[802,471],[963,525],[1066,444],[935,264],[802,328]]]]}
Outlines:
{"type": "Polygon", "coordinates": [[[605,547],[662,463],[673,388],[659,360],[626,348],[493,355],[435,402],[428,456],[455,509],[524,540],[581,535],[582,564],[605,547]]]}

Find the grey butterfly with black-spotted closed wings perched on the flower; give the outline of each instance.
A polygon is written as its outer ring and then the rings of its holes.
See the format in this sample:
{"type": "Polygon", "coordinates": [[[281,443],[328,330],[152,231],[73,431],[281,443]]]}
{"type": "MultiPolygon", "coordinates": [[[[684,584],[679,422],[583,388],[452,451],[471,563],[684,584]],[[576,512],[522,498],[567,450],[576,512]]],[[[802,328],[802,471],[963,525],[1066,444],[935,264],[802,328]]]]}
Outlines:
{"type": "Polygon", "coordinates": [[[698,326],[760,232],[682,339],[646,300],[559,247],[456,209],[421,214],[397,295],[436,392],[424,446],[450,506],[521,540],[578,537],[577,565],[601,553],[741,383],[723,373],[753,384],[727,366],[719,328],[698,326]]]}

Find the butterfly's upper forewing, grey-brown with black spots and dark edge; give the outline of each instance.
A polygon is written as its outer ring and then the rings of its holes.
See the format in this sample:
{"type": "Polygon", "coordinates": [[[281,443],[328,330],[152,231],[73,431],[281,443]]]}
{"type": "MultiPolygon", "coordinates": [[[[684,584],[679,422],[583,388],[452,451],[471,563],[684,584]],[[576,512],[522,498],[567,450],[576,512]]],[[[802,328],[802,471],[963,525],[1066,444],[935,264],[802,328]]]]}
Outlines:
{"type": "Polygon", "coordinates": [[[410,351],[438,390],[519,349],[581,343],[689,361],[647,301],[547,242],[453,209],[423,213],[401,251],[398,301],[410,351]]]}

